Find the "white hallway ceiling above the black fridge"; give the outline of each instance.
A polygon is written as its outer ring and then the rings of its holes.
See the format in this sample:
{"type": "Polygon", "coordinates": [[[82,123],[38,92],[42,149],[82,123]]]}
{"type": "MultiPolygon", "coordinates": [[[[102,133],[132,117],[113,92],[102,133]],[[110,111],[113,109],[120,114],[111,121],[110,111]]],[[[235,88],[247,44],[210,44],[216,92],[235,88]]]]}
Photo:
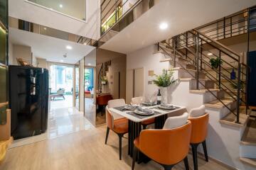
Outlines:
{"type": "MultiPolygon", "coordinates": [[[[58,38],[30,33],[16,28],[9,28],[9,40],[14,45],[30,46],[35,57],[44,58],[48,62],[60,62],[60,60],[63,60],[63,63],[75,64],[81,60],[82,57],[85,57],[89,52],[95,49],[95,47],[90,45],[60,40],[58,38]],[[73,49],[66,49],[67,45],[70,45],[73,49]],[[67,53],[68,56],[66,58],[63,57],[65,53],[67,53]]],[[[86,62],[96,65],[95,60],[88,59],[86,62]]]]}

